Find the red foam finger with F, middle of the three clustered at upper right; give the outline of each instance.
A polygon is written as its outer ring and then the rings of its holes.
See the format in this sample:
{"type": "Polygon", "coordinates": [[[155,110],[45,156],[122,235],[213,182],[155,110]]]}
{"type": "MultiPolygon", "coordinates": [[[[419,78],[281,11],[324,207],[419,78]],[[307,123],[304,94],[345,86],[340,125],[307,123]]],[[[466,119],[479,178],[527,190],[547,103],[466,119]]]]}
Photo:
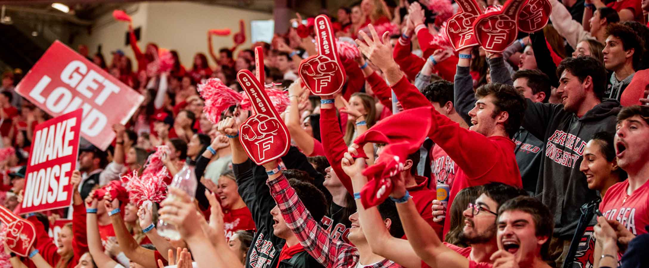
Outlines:
{"type": "Polygon", "coordinates": [[[473,30],[478,43],[491,53],[502,53],[516,41],[519,12],[528,0],[509,0],[502,10],[478,16],[473,30]]]}

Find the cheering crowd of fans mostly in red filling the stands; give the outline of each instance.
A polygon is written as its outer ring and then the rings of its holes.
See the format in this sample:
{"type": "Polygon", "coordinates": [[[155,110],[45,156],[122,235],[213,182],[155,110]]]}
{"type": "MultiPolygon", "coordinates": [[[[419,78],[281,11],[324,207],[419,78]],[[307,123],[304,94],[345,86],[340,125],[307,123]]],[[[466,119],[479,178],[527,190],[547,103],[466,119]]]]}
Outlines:
{"type": "MultiPolygon", "coordinates": [[[[342,6],[330,18],[346,80],[324,96],[300,79],[300,62],[321,52],[312,18],[297,14],[287,34],[236,55],[237,45],[215,53],[208,32],[209,58],[184,67],[166,51],[164,70],[165,49],[142,50],[129,24],[134,58],[79,54],[144,101],[112,126],[107,150],[80,143],[73,204],[24,214],[37,233],[30,254],[5,250],[0,263],[649,267],[645,2],[549,0],[548,25],[502,53],[455,51],[448,0],[342,6]],[[242,69],[263,74],[291,138],[262,165],[239,139],[254,116],[242,69]],[[195,191],[173,187],[188,169],[195,191]]],[[[18,215],[34,129],[51,118],[16,93],[20,79],[5,72],[0,87],[0,199],[18,215]]]]}

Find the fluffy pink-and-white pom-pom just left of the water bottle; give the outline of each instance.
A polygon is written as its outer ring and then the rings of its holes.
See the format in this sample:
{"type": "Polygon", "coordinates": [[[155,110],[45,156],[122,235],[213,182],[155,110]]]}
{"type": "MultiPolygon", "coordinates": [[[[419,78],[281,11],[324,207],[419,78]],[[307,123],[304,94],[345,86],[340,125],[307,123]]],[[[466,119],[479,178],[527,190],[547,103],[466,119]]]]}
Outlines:
{"type": "Polygon", "coordinates": [[[144,201],[162,202],[167,196],[167,167],[162,167],[158,173],[142,174],[138,177],[138,171],[131,175],[122,177],[126,181],[125,188],[129,192],[129,201],[136,206],[141,206],[144,201]]]}

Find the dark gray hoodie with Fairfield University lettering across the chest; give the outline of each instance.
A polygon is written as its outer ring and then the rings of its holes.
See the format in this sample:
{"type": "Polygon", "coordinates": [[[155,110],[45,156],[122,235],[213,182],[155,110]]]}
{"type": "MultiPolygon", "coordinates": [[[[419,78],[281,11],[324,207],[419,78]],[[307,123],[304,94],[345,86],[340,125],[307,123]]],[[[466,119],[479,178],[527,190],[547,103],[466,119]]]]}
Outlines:
{"type": "Polygon", "coordinates": [[[581,118],[563,104],[527,103],[522,127],[545,143],[536,197],[554,213],[554,236],[569,240],[580,206],[598,198],[579,171],[583,149],[596,132],[615,132],[620,103],[604,99],[581,118]]]}

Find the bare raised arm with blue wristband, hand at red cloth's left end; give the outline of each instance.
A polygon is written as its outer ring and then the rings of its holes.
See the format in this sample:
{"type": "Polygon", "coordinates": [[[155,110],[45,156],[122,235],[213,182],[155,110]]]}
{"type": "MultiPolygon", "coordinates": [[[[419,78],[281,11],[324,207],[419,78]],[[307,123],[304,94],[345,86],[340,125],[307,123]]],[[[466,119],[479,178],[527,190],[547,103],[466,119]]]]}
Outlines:
{"type": "MultiPolygon", "coordinates": [[[[367,183],[367,177],[361,174],[361,171],[365,168],[365,159],[356,158],[354,162],[349,153],[346,155],[349,157],[343,158],[343,169],[345,169],[345,173],[352,177],[354,192],[359,193],[367,183]]],[[[356,199],[356,208],[360,219],[359,223],[374,254],[393,260],[406,268],[421,267],[421,258],[415,254],[415,250],[412,249],[410,243],[407,240],[390,235],[376,206],[365,209],[361,200],[356,199]]]]}

